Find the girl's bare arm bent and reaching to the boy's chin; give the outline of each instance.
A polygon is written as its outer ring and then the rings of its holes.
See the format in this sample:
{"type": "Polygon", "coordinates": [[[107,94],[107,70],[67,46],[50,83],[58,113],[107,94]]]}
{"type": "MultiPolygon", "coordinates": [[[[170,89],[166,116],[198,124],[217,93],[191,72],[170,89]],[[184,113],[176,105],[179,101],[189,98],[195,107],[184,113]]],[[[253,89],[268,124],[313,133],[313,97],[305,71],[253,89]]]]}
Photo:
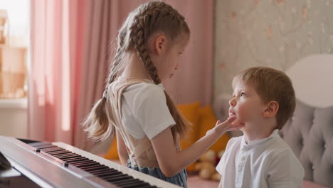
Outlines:
{"type": "Polygon", "coordinates": [[[231,124],[234,120],[236,120],[236,117],[231,117],[222,123],[220,123],[220,121],[216,122],[216,126],[208,130],[204,137],[201,137],[201,139],[196,141],[193,145],[179,152],[177,152],[174,147],[171,128],[167,128],[160,132],[159,135],[153,137],[152,146],[154,147],[159,167],[163,174],[168,177],[174,176],[182,169],[189,166],[189,164],[198,160],[224,133],[243,127],[243,125],[231,124]]]}

